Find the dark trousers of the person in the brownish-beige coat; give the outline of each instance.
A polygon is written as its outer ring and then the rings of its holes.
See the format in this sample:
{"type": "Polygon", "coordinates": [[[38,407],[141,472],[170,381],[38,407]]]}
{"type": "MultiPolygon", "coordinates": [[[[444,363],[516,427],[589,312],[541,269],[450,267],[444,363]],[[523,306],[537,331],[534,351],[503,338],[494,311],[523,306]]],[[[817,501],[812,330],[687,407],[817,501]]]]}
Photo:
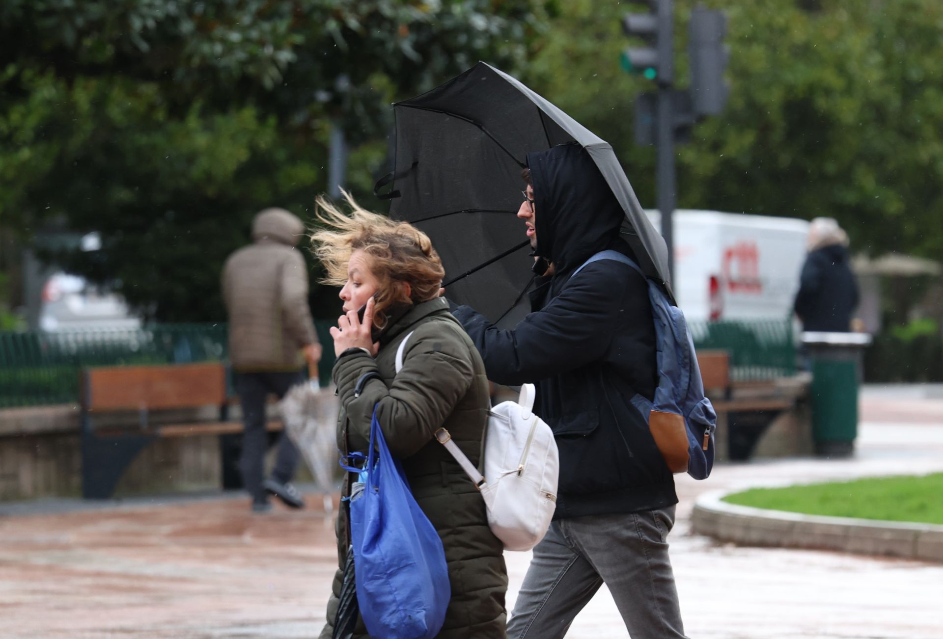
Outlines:
{"type": "MultiPolygon", "coordinates": [[[[236,373],[236,392],[242,405],[242,455],[240,471],[245,489],[256,501],[267,499],[262,489],[265,475],[265,452],[269,448],[269,434],[265,430],[265,401],[270,393],[282,399],[289,388],[301,384],[305,378],[300,372],[236,373]]],[[[298,466],[298,450],[283,431],[278,438],[278,456],[272,478],[279,483],[290,482],[298,466]]]]}

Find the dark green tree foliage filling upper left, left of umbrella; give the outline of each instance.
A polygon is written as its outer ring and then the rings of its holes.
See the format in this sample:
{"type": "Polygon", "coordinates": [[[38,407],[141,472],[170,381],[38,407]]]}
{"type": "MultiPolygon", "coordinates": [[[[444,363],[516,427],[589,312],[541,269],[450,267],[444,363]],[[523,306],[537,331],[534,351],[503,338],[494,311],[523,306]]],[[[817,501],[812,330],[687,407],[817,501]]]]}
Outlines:
{"type": "Polygon", "coordinates": [[[383,168],[389,103],[479,58],[510,69],[529,0],[7,0],[0,6],[0,223],[98,231],[59,252],[157,319],[220,319],[219,272],[260,208],[383,168]]]}

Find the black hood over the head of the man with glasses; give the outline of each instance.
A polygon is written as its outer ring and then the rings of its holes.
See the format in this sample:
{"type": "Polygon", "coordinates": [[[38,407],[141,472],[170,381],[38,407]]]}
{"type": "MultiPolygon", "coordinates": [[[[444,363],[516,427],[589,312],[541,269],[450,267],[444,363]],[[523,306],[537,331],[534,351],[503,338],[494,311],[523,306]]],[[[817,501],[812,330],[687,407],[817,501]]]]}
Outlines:
{"type": "Polygon", "coordinates": [[[527,154],[534,182],[537,254],[557,275],[576,269],[619,237],[625,214],[579,144],[527,154]]]}

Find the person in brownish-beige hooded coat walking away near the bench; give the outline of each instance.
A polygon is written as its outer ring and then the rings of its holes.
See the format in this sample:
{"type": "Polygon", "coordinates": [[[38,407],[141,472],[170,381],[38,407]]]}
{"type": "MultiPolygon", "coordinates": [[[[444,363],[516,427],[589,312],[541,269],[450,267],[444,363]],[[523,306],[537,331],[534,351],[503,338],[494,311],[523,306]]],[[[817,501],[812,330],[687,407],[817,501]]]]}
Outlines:
{"type": "Polygon", "coordinates": [[[223,267],[223,299],[229,315],[229,358],[242,406],[240,471],[254,511],[264,513],[275,495],[292,508],[305,505],[291,484],[298,451],[281,434],[272,476],[264,479],[268,433],[265,402],[281,399],[304,381],[303,360],[317,364],[321,344],[307,303],[307,267],[295,248],[305,225],[282,208],[260,211],[253,243],[231,254],[223,267]]]}

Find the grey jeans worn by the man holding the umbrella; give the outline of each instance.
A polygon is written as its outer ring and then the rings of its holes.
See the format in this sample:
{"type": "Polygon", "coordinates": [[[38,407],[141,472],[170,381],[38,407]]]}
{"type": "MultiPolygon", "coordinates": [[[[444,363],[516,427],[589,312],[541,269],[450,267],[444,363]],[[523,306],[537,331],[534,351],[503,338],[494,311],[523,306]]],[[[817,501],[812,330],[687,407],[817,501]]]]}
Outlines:
{"type": "Polygon", "coordinates": [[[554,521],[534,549],[507,636],[565,636],[605,583],[633,639],[685,637],[668,557],[673,525],[674,506],[554,521]]]}

